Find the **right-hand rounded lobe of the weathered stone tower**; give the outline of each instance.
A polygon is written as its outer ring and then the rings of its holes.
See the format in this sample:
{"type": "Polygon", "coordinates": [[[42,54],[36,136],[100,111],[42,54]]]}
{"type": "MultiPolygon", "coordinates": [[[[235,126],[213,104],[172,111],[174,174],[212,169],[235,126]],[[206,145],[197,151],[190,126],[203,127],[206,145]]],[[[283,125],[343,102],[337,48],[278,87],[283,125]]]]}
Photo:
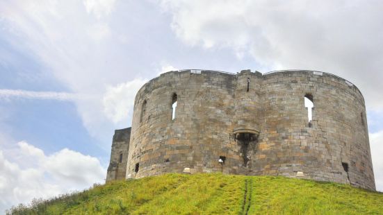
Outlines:
{"type": "Polygon", "coordinates": [[[265,123],[254,174],[295,176],[302,171],[304,178],[375,189],[363,96],[343,78],[316,74],[286,71],[263,77],[265,123]],[[311,126],[305,94],[313,96],[311,126]]]}

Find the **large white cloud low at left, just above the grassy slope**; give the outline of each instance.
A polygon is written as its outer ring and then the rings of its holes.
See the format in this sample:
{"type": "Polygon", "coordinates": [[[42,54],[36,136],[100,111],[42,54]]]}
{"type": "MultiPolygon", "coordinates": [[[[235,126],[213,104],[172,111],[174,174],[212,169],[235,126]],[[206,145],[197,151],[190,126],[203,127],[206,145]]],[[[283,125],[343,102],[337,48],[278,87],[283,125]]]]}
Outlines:
{"type": "Polygon", "coordinates": [[[7,149],[0,150],[0,211],[29,203],[33,198],[85,189],[96,182],[103,183],[106,177],[106,170],[95,157],[67,148],[44,155],[40,148],[26,141],[17,146],[20,156],[16,158],[7,157],[10,156],[7,149]]]}

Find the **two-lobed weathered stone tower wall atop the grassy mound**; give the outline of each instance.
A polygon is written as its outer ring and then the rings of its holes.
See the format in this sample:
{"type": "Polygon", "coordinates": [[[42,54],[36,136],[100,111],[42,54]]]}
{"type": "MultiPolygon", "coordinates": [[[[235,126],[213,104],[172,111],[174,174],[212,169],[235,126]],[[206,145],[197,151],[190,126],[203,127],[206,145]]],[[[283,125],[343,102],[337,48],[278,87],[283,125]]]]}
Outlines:
{"type": "Polygon", "coordinates": [[[188,168],[375,189],[364,98],[347,80],[318,71],[169,71],[138,91],[124,143],[127,178],[188,168]]]}

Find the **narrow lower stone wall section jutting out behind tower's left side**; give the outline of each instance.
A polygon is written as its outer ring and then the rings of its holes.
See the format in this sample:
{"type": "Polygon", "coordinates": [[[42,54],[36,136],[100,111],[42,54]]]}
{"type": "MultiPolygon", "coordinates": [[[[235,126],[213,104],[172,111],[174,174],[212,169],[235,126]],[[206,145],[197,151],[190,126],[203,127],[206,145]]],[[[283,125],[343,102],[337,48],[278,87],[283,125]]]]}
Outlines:
{"type": "Polygon", "coordinates": [[[131,128],[115,130],[106,182],[125,179],[127,174],[130,133],[131,128]]]}

